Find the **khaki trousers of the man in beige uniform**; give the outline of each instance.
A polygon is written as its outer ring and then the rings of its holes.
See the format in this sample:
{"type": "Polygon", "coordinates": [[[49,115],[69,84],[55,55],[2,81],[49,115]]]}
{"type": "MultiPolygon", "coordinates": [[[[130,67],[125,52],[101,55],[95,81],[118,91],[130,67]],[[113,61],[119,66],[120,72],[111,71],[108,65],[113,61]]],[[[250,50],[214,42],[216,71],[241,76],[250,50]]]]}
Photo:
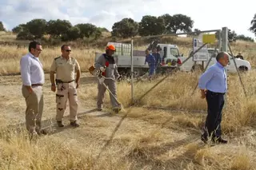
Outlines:
{"type": "Polygon", "coordinates": [[[62,121],[65,110],[66,101],[69,99],[70,104],[70,121],[78,120],[78,95],[74,81],[70,83],[58,83],[56,93],[56,121],[62,121]]]}

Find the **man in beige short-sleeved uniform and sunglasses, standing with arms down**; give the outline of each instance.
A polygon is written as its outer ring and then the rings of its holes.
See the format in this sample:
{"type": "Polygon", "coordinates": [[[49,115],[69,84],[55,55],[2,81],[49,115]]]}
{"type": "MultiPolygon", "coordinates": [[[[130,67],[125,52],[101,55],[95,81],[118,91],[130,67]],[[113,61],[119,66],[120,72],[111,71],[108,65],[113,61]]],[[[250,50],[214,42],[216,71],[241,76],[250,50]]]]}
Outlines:
{"type": "Polygon", "coordinates": [[[69,45],[62,45],[62,56],[54,58],[50,66],[51,90],[56,91],[58,127],[63,127],[62,118],[66,110],[66,101],[70,102],[70,125],[78,127],[78,96],[77,89],[80,79],[80,66],[74,57],[70,57],[71,49],[69,45]],[[74,74],[77,73],[74,80],[74,74]],[[54,73],[56,73],[56,85],[54,83],[54,73]]]}

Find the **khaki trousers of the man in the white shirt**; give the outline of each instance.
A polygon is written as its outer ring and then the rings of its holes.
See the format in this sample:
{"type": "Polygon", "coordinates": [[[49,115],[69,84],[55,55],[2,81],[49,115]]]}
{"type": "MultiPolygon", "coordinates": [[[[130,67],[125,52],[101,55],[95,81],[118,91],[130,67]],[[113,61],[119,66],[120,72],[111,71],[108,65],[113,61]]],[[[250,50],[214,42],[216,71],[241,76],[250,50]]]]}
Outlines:
{"type": "Polygon", "coordinates": [[[26,86],[22,85],[22,96],[26,100],[26,129],[29,132],[41,131],[41,119],[43,110],[42,86],[32,86],[30,93],[26,86]]]}

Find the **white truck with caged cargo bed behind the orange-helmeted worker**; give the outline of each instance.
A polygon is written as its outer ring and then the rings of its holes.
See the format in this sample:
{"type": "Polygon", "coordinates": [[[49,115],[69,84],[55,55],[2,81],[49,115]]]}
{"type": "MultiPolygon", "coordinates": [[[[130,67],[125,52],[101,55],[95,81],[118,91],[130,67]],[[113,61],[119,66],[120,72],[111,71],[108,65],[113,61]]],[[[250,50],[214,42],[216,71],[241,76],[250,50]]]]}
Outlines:
{"type": "MultiPolygon", "coordinates": [[[[118,65],[118,72],[122,75],[130,75],[131,67],[131,45],[118,43],[118,42],[108,42],[107,45],[112,44],[116,48],[114,53],[114,59],[118,65]]],[[[162,58],[161,65],[158,67],[158,73],[166,73],[181,64],[178,46],[177,45],[167,45],[158,44],[158,47],[162,49],[160,56],[162,58]]],[[[145,49],[146,50],[146,49],[145,49]]],[[[145,50],[134,50],[134,73],[135,76],[142,76],[149,70],[149,66],[145,65],[146,54],[145,50]]],[[[96,52],[95,61],[101,56],[102,53],[96,52]]]]}

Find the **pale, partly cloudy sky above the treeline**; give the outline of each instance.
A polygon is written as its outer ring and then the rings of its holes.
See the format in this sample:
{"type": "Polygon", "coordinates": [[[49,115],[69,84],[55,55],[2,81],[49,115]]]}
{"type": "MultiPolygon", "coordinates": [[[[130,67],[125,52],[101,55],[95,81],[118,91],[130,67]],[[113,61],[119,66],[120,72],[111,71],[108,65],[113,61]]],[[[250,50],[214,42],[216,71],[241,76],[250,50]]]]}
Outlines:
{"type": "Polygon", "coordinates": [[[256,14],[256,1],[230,0],[0,0],[0,21],[7,30],[33,18],[67,19],[73,25],[90,22],[111,30],[114,22],[133,18],[139,22],[146,14],[186,14],[194,28],[216,30],[227,26],[237,34],[255,38],[248,29],[256,14]]]}

